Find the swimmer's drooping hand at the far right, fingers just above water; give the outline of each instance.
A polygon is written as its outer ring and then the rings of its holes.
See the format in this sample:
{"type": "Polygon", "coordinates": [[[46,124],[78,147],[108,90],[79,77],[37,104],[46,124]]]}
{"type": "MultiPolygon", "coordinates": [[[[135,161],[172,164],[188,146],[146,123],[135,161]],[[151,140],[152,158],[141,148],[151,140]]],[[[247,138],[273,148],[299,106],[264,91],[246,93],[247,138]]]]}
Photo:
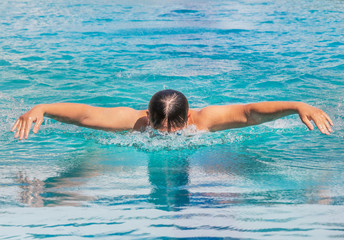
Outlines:
{"type": "Polygon", "coordinates": [[[323,110],[305,103],[301,103],[298,107],[298,113],[301,121],[308,127],[309,130],[314,129],[314,126],[311,123],[311,121],[313,121],[321,133],[330,135],[330,133],[333,132],[331,128],[331,126],[333,126],[333,122],[323,110]]]}

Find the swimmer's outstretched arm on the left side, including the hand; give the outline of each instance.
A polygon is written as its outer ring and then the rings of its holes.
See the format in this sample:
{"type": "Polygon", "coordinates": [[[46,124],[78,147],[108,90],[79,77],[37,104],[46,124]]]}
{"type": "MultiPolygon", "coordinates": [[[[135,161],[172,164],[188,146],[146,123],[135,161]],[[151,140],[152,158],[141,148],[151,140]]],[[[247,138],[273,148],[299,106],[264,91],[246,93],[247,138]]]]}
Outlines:
{"type": "Polygon", "coordinates": [[[11,131],[16,131],[14,136],[19,137],[19,140],[23,137],[27,139],[32,123],[35,123],[33,132],[37,133],[43,122],[43,116],[95,129],[130,130],[142,117],[143,112],[127,107],[102,108],[77,103],[40,104],[20,116],[11,131]]]}

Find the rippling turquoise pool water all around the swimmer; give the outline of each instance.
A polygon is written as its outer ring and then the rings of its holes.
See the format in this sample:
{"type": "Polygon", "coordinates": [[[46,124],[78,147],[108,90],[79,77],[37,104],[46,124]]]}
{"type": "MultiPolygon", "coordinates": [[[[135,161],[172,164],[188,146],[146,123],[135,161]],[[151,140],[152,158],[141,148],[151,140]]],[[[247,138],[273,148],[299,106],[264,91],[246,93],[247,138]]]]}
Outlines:
{"type": "MultiPolygon", "coordinates": [[[[1,239],[344,238],[343,1],[0,3],[1,239]],[[325,110],[186,136],[46,120],[39,103],[145,109],[182,91],[193,108],[265,100],[325,110]]],[[[192,132],[192,131],[191,131],[192,132]]]]}

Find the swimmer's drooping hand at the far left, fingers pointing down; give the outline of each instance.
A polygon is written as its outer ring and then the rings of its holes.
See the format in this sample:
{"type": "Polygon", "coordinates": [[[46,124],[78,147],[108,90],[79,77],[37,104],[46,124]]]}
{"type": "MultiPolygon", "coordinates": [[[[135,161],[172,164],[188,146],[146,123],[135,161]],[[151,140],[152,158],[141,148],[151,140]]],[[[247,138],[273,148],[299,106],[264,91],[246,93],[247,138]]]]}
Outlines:
{"type": "Polygon", "coordinates": [[[42,125],[43,116],[44,111],[40,105],[33,107],[30,111],[21,115],[11,129],[11,132],[16,131],[14,137],[19,137],[19,140],[23,140],[24,137],[27,139],[32,123],[35,123],[32,132],[37,133],[39,127],[42,125]]]}

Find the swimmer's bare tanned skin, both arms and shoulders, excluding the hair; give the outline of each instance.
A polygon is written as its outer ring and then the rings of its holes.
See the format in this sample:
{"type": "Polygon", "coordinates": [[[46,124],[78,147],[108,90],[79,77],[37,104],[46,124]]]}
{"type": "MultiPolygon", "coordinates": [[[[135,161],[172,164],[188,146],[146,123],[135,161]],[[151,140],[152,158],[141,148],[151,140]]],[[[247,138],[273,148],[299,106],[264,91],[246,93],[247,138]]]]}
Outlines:
{"type": "MultiPolygon", "coordinates": [[[[302,122],[313,130],[311,121],[320,132],[329,135],[333,122],[321,109],[302,102],[260,102],[251,104],[209,106],[200,110],[189,110],[187,125],[195,125],[199,130],[220,131],[241,128],[273,121],[278,118],[298,114],[302,122]]],[[[15,137],[27,139],[33,123],[33,133],[37,133],[47,116],[55,120],[82,127],[106,131],[142,131],[149,123],[147,110],[128,107],[102,108],[77,103],[40,104],[21,115],[13,125],[15,137]]],[[[166,127],[159,130],[166,131],[166,127]]],[[[178,129],[172,129],[175,131],[178,129]]]]}

